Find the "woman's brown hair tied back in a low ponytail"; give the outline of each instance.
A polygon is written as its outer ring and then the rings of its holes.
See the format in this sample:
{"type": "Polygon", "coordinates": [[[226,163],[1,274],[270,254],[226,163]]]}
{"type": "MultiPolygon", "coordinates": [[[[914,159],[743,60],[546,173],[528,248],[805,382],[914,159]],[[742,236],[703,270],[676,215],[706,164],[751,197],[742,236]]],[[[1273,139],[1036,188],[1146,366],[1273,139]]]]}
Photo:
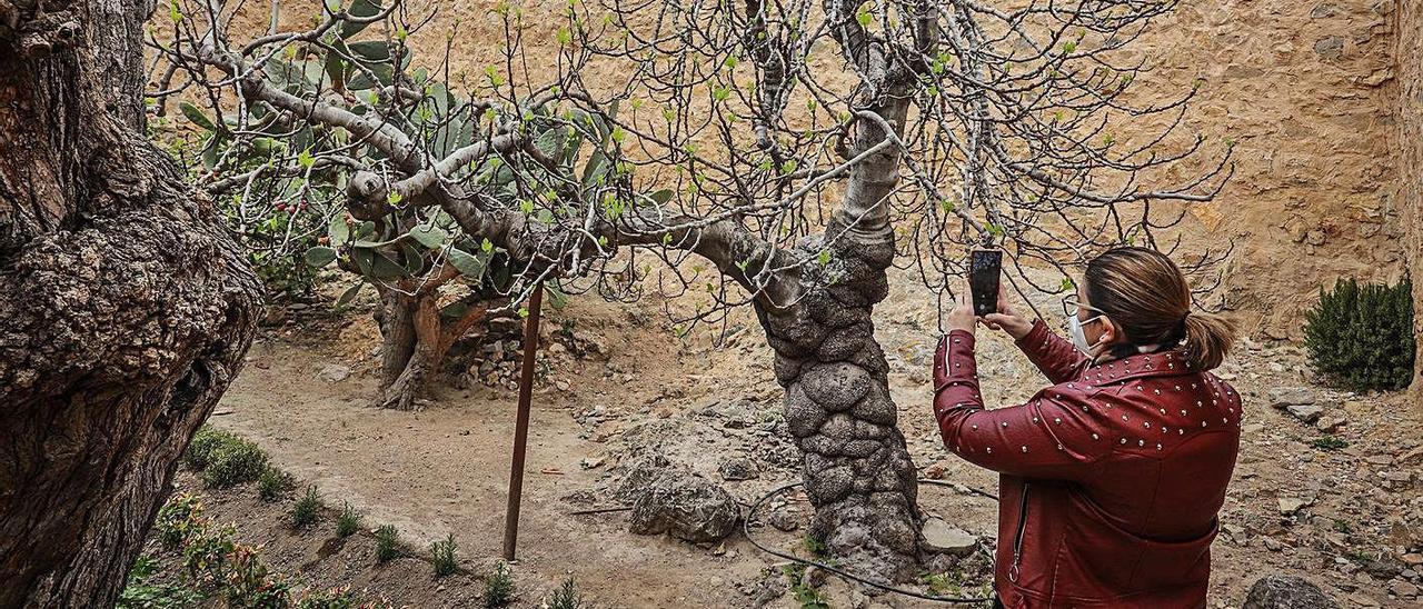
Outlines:
{"type": "Polygon", "coordinates": [[[1110,249],[1087,263],[1083,279],[1091,307],[1106,313],[1131,346],[1184,340],[1191,367],[1211,370],[1235,341],[1235,326],[1225,317],[1191,310],[1185,275],[1161,252],[1110,249]]]}

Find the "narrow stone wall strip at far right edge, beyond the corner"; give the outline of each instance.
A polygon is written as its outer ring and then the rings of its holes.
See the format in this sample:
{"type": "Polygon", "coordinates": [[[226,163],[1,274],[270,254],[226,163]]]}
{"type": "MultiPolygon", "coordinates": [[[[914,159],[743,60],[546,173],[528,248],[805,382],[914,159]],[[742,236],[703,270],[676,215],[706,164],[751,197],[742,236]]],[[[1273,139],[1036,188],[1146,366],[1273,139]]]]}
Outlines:
{"type": "MultiPolygon", "coordinates": [[[[1423,4],[1406,1],[1399,7],[1399,206],[1407,232],[1407,262],[1413,272],[1413,334],[1423,333],[1423,4]]],[[[1413,394],[1423,403],[1423,341],[1414,360],[1413,394]]]]}

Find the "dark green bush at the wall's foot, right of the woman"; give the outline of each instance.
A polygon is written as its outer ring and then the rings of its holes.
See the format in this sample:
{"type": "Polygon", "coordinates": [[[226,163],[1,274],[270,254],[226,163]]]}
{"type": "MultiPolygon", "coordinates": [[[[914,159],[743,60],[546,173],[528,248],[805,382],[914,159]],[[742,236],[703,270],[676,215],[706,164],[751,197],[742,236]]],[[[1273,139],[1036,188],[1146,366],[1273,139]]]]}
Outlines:
{"type": "Polygon", "coordinates": [[[1413,378],[1413,283],[1319,289],[1305,313],[1309,360],[1331,383],[1352,390],[1399,390],[1413,378]]]}

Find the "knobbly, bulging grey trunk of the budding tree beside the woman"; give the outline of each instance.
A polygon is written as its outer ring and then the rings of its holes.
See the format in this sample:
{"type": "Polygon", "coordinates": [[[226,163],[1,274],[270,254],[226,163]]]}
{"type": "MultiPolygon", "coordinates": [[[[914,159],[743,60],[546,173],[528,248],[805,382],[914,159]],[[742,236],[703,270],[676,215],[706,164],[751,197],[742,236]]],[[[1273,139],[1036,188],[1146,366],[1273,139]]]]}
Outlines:
{"type": "MultiPolygon", "coordinates": [[[[902,100],[875,108],[895,129],[905,111],[902,100]]],[[[862,121],[852,152],[887,137],[881,124],[862,121]]],[[[851,171],[845,201],[815,243],[832,253],[828,276],[805,282],[787,310],[757,310],[785,387],[785,423],[805,458],[810,535],[857,572],[902,581],[918,565],[918,485],[871,320],[889,292],[895,246],[884,202],[898,168],[899,151],[888,147],[851,171]]]]}

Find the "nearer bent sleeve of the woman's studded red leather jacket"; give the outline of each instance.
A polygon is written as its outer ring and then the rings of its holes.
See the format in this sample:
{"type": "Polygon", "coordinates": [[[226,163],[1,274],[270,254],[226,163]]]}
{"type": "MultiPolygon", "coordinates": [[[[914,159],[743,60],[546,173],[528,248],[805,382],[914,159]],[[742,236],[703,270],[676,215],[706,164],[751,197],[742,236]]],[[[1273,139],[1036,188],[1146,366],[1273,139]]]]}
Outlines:
{"type": "Polygon", "coordinates": [[[955,330],[933,361],[933,414],[943,445],[976,465],[1030,478],[1081,480],[1111,452],[1111,434],[1083,387],[1049,387],[1026,404],[985,410],[973,336],[955,330]]]}

